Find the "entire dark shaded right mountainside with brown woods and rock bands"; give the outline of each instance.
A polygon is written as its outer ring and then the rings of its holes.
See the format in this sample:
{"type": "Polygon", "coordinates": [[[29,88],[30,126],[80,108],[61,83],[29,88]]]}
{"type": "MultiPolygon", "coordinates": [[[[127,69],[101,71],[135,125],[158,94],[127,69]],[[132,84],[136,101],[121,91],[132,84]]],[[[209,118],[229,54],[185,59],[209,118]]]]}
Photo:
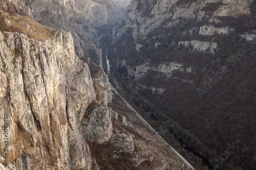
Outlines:
{"type": "Polygon", "coordinates": [[[255,9],[135,0],[113,30],[111,82],[196,169],[256,167],[255,9]]]}

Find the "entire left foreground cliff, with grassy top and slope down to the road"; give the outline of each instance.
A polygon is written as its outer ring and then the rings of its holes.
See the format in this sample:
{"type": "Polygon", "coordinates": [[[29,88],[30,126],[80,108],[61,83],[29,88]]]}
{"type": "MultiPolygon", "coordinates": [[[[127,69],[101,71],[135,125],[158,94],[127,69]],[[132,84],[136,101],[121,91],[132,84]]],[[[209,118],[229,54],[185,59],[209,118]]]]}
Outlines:
{"type": "Polygon", "coordinates": [[[70,33],[8,11],[0,18],[1,168],[190,169],[112,101],[108,76],[91,77],[70,33]]]}

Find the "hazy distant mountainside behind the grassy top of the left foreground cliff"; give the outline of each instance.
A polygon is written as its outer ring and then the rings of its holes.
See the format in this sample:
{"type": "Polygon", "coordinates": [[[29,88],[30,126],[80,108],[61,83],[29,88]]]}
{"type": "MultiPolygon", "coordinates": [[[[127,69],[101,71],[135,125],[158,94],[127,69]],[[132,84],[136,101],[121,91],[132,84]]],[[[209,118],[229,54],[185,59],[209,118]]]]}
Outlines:
{"type": "Polygon", "coordinates": [[[124,12],[119,4],[95,3],[91,0],[4,0],[0,8],[27,15],[42,25],[71,32],[79,58],[87,58],[90,53],[98,51],[100,45],[95,28],[115,25],[122,19],[124,12]]]}

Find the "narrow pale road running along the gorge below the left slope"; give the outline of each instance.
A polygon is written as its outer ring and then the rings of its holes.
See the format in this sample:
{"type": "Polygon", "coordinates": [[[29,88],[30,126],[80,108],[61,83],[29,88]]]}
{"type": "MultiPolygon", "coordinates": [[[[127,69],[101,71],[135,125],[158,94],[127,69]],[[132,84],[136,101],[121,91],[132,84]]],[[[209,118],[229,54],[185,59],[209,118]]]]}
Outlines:
{"type": "MultiPolygon", "coordinates": [[[[105,35],[104,35],[104,36],[105,36],[105,35]]],[[[100,38],[101,38],[101,37],[100,37],[100,38]]],[[[99,38],[99,39],[100,39],[100,38],[99,38]]],[[[100,54],[100,56],[99,56],[99,59],[100,59],[100,61],[99,61],[99,66],[100,66],[101,70],[102,70],[103,72],[105,72],[104,69],[103,69],[103,65],[102,65],[102,48],[100,48],[99,51],[100,51],[100,52],[99,52],[99,54],[100,54]]],[[[110,83],[110,82],[109,82],[109,83],[110,83]]],[[[120,98],[121,98],[121,99],[123,100],[123,102],[127,105],[127,107],[130,108],[132,111],[134,111],[134,112],[136,113],[137,117],[141,120],[141,122],[144,123],[152,132],[155,132],[155,134],[156,134],[160,139],[162,139],[165,144],[167,144],[167,145],[170,147],[170,145],[162,138],[162,136],[160,136],[160,135],[155,131],[155,129],[153,129],[153,128],[150,126],[150,124],[148,124],[148,123],[146,122],[146,120],[145,120],[143,117],[141,117],[141,115],[140,115],[125,99],[123,99],[123,97],[117,92],[117,90],[114,88],[114,86],[112,86],[111,83],[110,83],[110,87],[111,87],[111,89],[112,89],[116,94],[118,94],[118,95],[120,96],[120,98]]],[[[173,149],[172,147],[170,147],[170,149],[176,154],[176,156],[178,156],[180,159],[182,159],[182,160],[187,164],[187,166],[189,166],[191,169],[195,170],[194,167],[191,166],[191,165],[186,161],[186,159],[183,158],[175,149],[173,149]]]]}

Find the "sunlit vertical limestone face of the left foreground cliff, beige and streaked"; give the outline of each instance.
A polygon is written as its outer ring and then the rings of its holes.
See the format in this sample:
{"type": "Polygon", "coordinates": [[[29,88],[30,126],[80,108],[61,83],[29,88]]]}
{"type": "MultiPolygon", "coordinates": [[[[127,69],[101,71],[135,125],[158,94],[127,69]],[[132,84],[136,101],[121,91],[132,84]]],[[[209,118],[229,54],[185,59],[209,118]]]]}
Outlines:
{"type": "Polygon", "coordinates": [[[8,115],[9,162],[18,169],[23,162],[28,169],[91,169],[79,116],[96,98],[93,81],[71,34],[55,31],[53,37],[42,43],[0,33],[0,109],[1,120],[8,115]]]}

